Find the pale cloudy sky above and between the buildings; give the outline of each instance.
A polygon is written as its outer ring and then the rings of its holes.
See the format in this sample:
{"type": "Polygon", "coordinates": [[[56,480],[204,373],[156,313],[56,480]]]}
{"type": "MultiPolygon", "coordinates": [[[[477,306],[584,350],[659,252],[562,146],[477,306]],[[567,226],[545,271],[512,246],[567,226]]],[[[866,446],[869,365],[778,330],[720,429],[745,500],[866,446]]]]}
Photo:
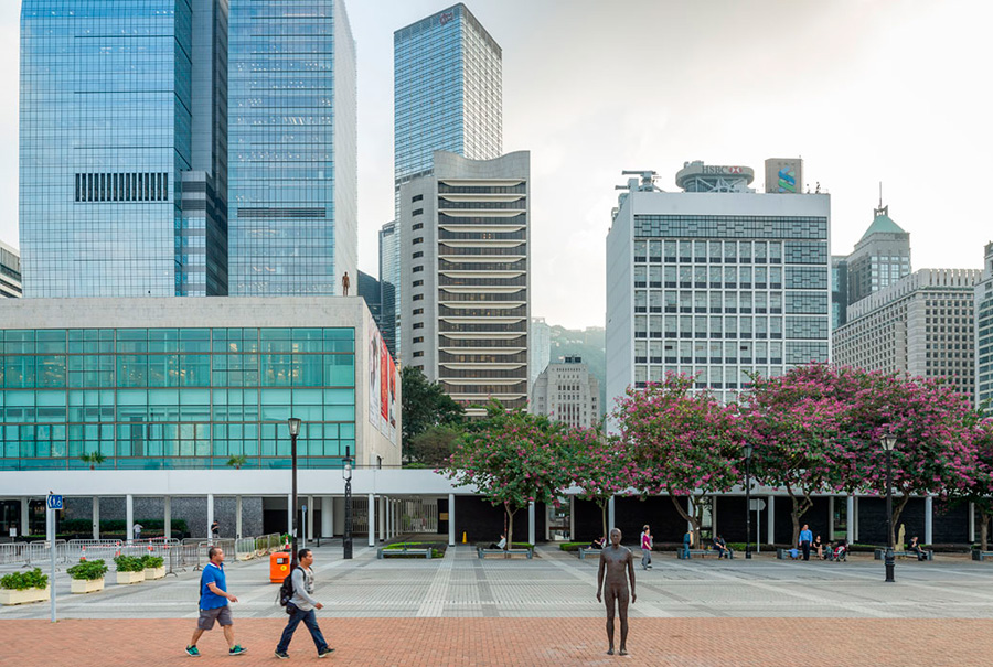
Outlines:
{"type": "MultiPolygon", "coordinates": [[[[19,4],[0,1],[0,240],[14,247],[19,4]]],[[[377,275],[376,233],[394,206],[393,31],[450,3],[346,4],[359,62],[359,266],[377,275]]],[[[602,326],[620,172],[654,170],[675,191],[691,160],[751,166],[761,191],[767,158],[802,157],[811,190],[831,194],[835,255],[872,223],[882,182],[915,270],[982,268],[993,240],[983,204],[993,3],[466,4],[503,49],[504,151],[531,151],[533,316],[602,326]]]]}

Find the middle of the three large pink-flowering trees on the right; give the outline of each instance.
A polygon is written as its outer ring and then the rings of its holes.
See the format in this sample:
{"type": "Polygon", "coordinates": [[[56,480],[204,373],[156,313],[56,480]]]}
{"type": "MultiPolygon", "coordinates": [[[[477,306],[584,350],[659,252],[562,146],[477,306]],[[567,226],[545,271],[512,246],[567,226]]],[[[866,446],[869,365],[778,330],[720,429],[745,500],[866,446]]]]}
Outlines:
{"type": "Polygon", "coordinates": [[[745,432],[754,445],[752,471],[789,494],[794,545],[813,494],[844,486],[847,439],[842,426],[848,404],[835,392],[836,379],[831,367],[811,364],[782,377],[755,376],[751,390],[740,396],[745,432]]]}

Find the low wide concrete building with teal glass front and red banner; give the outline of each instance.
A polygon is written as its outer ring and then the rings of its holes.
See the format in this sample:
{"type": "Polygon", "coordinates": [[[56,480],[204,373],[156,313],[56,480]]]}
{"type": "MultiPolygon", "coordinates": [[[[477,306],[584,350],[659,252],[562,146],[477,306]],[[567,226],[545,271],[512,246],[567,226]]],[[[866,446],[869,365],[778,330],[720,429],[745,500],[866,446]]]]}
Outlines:
{"type": "MultiPolygon", "coordinates": [[[[302,470],[340,477],[327,469],[346,451],[359,466],[401,462],[396,365],[359,297],[0,301],[0,488],[29,471],[76,471],[107,492],[136,475],[149,490],[192,487],[191,475],[201,495],[234,496],[193,473],[223,476],[244,456],[238,473],[288,476],[289,417],[303,421],[302,470]],[[81,456],[93,452],[105,461],[89,471],[81,456]]],[[[285,494],[235,486],[246,521],[286,515],[285,494]]],[[[162,494],[148,495],[160,513],[162,494]]],[[[206,520],[202,503],[171,509],[206,520]]]]}

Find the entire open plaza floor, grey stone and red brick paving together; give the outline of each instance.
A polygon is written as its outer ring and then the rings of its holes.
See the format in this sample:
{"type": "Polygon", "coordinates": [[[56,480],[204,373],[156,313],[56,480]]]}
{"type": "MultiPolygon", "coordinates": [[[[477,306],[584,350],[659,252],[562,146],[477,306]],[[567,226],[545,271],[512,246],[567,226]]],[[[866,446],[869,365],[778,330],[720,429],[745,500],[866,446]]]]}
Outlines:
{"type": "MultiPolygon", "coordinates": [[[[534,560],[479,560],[459,546],[440,560],[377,560],[360,548],[316,549],[318,612],[344,665],[608,665],[597,560],[538,548],[534,560]]],[[[683,561],[656,553],[637,568],[632,657],[658,665],[986,664],[993,652],[993,563],[965,556],[899,560],[883,581],[871,555],[847,563],[683,561]]],[[[197,614],[199,572],[70,595],[61,574],[60,623],[49,605],[0,609],[0,664],[173,665],[197,614]]],[[[285,620],[268,583],[268,562],[231,563],[228,589],[246,664],[270,664],[285,620]]],[[[202,661],[224,646],[201,639],[202,661]]],[[[316,659],[300,628],[290,649],[316,659]]],[[[225,660],[234,659],[224,657],[225,660]]]]}

